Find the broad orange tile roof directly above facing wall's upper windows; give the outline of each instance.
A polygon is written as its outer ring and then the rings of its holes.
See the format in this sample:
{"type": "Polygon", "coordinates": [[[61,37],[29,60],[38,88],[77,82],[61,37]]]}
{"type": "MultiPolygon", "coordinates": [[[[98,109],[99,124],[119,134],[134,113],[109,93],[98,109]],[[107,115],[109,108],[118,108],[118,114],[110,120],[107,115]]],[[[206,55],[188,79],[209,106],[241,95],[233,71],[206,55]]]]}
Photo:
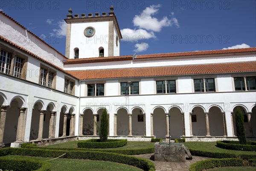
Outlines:
{"type": "Polygon", "coordinates": [[[125,77],[151,77],[189,74],[217,74],[233,72],[256,71],[256,61],[240,63],[218,63],[186,66],[162,66],[145,68],[119,68],[97,69],[83,71],[68,71],[80,80],[125,78],[125,77]]]}

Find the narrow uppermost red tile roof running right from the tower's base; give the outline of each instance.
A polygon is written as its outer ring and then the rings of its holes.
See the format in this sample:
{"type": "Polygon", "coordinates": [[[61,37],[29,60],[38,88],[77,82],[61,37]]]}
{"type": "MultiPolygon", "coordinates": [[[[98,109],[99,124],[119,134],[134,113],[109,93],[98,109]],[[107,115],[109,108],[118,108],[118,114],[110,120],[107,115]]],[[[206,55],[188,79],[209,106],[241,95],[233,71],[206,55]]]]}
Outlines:
{"type": "MultiPolygon", "coordinates": [[[[163,58],[163,57],[184,57],[184,56],[200,56],[200,55],[213,55],[213,54],[234,54],[234,53],[246,53],[246,52],[256,52],[256,47],[254,48],[236,48],[236,49],[225,49],[225,50],[211,50],[211,51],[189,51],[189,52],[175,52],[166,54],[143,54],[137,55],[138,59],[147,58],[163,58]]],[[[64,65],[76,64],[76,63],[99,63],[99,62],[113,62],[122,60],[132,60],[132,55],[127,56],[117,56],[117,57],[92,57],[92,58],[81,58],[81,59],[68,59],[64,61],[64,65]]]]}

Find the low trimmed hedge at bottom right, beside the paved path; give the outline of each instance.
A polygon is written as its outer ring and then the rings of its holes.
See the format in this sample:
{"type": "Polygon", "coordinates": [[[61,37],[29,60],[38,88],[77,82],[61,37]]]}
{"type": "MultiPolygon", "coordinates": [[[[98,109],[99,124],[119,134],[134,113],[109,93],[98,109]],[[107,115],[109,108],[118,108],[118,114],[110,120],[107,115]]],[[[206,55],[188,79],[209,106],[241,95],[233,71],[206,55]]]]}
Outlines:
{"type": "Polygon", "coordinates": [[[209,159],[192,164],[189,171],[203,171],[215,167],[244,166],[242,159],[209,159]]]}

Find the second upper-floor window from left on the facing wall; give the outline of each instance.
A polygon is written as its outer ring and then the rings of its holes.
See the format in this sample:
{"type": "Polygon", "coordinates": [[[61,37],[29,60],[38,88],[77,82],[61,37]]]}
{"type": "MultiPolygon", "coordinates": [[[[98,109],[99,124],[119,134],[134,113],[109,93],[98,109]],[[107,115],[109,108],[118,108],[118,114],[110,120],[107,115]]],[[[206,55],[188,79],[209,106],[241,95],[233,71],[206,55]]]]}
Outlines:
{"type": "Polygon", "coordinates": [[[121,95],[123,94],[139,94],[139,82],[121,83],[121,95]]]}

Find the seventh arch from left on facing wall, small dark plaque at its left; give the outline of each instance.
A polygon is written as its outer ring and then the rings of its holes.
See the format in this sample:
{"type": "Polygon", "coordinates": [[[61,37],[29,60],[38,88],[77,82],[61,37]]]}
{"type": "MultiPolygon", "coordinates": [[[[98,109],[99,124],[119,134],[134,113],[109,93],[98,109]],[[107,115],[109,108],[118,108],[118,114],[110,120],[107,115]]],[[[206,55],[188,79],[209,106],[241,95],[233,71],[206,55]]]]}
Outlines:
{"type": "Polygon", "coordinates": [[[192,109],[191,122],[194,136],[206,135],[205,114],[203,108],[196,106],[192,109]]]}

